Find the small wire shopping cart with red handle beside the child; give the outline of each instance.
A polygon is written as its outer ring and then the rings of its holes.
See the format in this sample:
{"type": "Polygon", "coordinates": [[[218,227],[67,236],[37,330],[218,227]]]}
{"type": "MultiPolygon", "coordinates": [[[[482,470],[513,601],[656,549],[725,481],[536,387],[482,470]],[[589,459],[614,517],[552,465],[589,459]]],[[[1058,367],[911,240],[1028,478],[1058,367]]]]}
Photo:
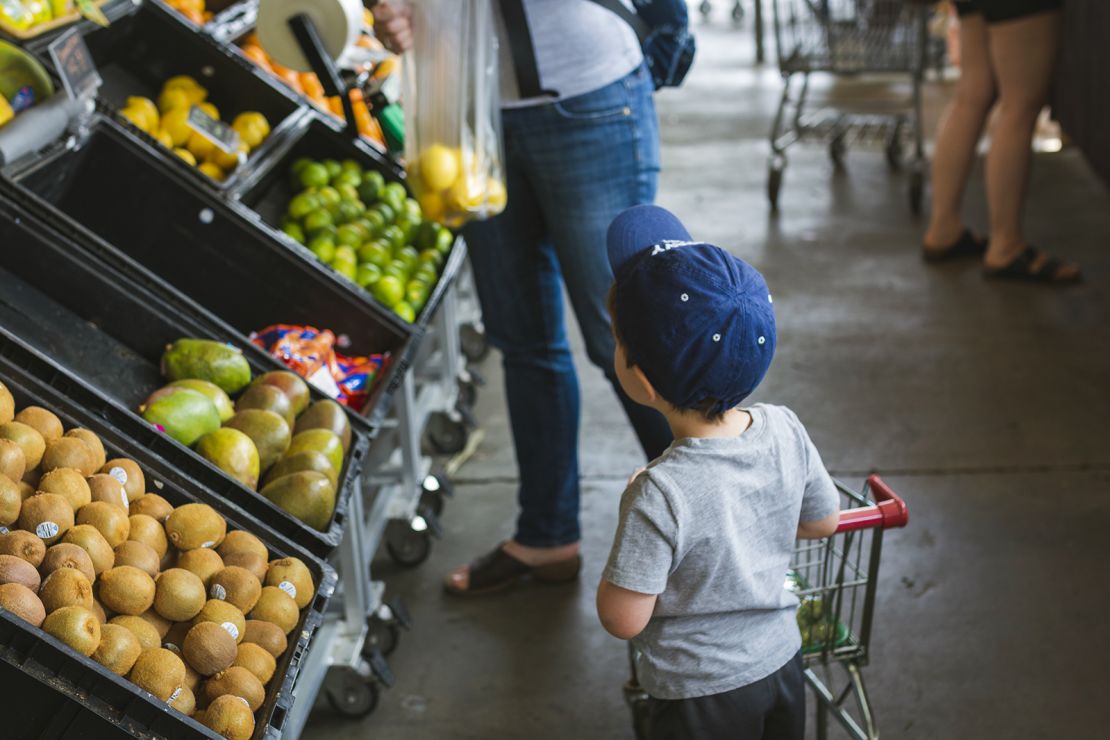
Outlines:
{"type": "MultiPolygon", "coordinates": [[[[794,591],[801,632],[806,682],[817,700],[817,738],[828,736],[831,716],[856,740],[878,740],[879,729],[861,669],[867,665],[875,616],[882,533],[909,521],[906,503],[872,475],[862,493],[837,481],[840,524],[824,539],[799,540],[786,576],[794,591]]],[[[644,737],[647,693],[636,678],[636,655],[628,643],[632,678],[625,700],[636,737],[644,737]]]]}

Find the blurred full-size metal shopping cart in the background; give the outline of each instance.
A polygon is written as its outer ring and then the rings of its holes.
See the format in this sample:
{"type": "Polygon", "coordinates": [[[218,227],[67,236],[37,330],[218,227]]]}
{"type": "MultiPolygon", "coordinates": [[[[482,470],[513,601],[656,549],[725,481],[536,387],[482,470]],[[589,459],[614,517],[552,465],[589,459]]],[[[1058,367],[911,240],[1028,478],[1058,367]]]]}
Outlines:
{"type": "MultiPolygon", "coordinates": [[[[801,139],[828,141],[839,168],[848,145],[880,141],[891,170],[902,164],[906,140],[912,140],[909,203],[920,213],[925,194],[921,134],[921,83],[925,77],[927,3],[915,0],[774,0],[775,41],[783,73],[783,95],[770,131],[767,197],[778,209],[786,150],[801,139]],[[874,89],[855,99],[837,90],[818,110],[808,110],[810,75],[827,72],[838,80],[860,78],[909,82],[909,93],[894,99],[874,89]],[[798,82],[800,78],[800,83],[798,82]],[[867,94],[869,93],[869,94],[867,94]]],[[[847,87],[847,85],[841,85],[847,87]]]]}

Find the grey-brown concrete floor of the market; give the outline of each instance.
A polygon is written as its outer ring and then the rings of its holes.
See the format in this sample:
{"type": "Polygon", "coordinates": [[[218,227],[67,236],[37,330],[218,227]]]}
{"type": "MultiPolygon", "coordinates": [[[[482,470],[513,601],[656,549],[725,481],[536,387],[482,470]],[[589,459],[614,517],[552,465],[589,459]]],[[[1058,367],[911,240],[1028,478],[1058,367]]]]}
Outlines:
{"type": "MultiPolygon", "coordinates": [[[[905,179],[876,152],[850,153],[838,173],[823,146],[799,146],[771,216],[765,136],[778,74],[751,65],[747,33],[720,21],[698,31],[692,78],[658,97],[659,202],[767,276],[780,344],[757,399],[796,409],[842,479],[879,470],[909,503],[909,528],[886,540],[865,672],[884,737],[1104,737],[1106,189],[1077,152],[1037,159],[1029,237],[1088,276],[1066,291],[987,284],[975,264],[924,266],[905,179]]],[[[983,225],[979,179],[967,213],[983,225]]],[[[581,582],[485,600],[441,591],[444,572],[512,533],[494,357],[478,408],[486,437],[461,472],[445,538],[416,570],[381,564],[417,622],[391,660],[397,685],[364,721],[316,712],[306,737],[630,737],[624,645],[597,624],[593,594],[622,481],[642,460],[601,372],[579,367],[581,582]]]]}

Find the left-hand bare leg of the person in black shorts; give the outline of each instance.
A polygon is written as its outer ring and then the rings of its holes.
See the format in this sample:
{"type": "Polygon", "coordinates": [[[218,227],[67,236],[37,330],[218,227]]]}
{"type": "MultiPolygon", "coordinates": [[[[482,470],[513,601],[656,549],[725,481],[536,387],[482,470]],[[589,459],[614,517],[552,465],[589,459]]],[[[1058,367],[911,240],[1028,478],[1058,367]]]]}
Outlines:
{"type": "Polygon", "coordinates": [[[995,100],[987,52],[987,23],[981,14],[960,19],[960,81],[948,104],[932,156],[932,215],[925,247],[942,250],[960,237],[960,204],[975,163],[976,146],[995,100]]]}

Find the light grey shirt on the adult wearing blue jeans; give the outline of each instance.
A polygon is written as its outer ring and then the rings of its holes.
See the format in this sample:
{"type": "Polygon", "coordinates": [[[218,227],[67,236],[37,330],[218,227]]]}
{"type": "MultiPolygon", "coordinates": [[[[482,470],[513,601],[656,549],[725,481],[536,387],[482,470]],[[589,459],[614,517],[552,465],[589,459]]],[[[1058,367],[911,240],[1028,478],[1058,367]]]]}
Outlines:
{"type": "MultiPolygon", "coordinates": [[[[599,90],[616,82],[644,60],[639,40],[628,23],[591,0],[522,0],[536,52],[539,84],[559,93],[558,100],[599,90]]],[[[623,0],[632,8],[628,0],[623,0]]],[[[497,28],[503,108],[553,102],[553,98],[521,100],[513,54],[493,3],[497,28]]]]}

